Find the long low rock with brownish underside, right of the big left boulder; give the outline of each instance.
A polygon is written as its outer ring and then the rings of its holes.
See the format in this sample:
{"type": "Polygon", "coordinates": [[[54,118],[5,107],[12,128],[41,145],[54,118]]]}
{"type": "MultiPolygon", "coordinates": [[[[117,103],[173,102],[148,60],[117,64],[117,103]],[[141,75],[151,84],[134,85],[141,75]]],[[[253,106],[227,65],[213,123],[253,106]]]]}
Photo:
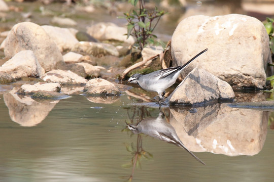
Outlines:
{"type": "Polygon", "coordinates": [[[119,52],[114,47],[114,45],[108,43],[81,41],[75,44],[75,47],[72,49],[72,51],[83,55],[92,55],[96,57],[106,55],[119,56],[119,52]]]}

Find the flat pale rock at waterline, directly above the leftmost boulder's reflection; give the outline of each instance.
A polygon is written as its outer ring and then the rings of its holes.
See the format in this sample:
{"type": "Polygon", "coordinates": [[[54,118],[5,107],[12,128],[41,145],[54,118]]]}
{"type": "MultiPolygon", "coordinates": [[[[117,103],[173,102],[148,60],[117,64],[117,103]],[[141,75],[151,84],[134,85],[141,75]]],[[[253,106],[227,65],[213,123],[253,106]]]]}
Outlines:
{"type": "Polygon", "coordinates": [[[39,91],[60,92],[61,85],[59,83],[38,82],[36,84],[23,84],[18,90],[19,95],[33,95],[39,91]]]}

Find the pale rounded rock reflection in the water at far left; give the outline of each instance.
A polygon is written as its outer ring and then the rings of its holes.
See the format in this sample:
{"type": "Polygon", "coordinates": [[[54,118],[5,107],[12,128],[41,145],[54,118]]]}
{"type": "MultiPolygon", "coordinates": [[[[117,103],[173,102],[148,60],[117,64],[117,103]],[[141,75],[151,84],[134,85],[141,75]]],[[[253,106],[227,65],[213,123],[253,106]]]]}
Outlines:
{"type": "Polygon", "coordinates": [[[9,115],[14,122],[21,126],[35,126],[42,122],[58,100],[37,102],[30,97],[19,98],[17,89],[13,88],[9,93],[4,94],[4,101],[9,108],[9,115]]]}

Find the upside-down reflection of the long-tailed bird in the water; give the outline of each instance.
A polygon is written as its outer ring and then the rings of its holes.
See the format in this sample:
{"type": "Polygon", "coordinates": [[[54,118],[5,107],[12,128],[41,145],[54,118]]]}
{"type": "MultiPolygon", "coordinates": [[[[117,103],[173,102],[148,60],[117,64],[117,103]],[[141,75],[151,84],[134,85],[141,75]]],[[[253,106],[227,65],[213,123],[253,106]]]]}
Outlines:
{"type": "Polygon", "coordinates": [[[166,122],[164,114],[159,113],[157,118],[146,118],[138,124],[127,124],[127,127],[135,134],[144,133],[162,141],[175,144],[184,148],[189,152],[197,161],[205,165],[198,157],[190,152],[179,139],[174,127],[166,122]]]}

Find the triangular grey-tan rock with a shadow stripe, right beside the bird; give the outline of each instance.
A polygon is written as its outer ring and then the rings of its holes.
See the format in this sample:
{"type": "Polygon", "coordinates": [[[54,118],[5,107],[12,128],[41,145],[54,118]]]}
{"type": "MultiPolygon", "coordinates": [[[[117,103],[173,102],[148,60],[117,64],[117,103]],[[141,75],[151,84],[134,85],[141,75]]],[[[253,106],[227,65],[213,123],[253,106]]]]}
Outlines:
{"type": "Polygon", "coordinates": [[[169,103],[206,104],[218,100],[232,100],[234,97],[233,89],[227,82],[204,69],[195,68],[174,90],[169,103]]]}

